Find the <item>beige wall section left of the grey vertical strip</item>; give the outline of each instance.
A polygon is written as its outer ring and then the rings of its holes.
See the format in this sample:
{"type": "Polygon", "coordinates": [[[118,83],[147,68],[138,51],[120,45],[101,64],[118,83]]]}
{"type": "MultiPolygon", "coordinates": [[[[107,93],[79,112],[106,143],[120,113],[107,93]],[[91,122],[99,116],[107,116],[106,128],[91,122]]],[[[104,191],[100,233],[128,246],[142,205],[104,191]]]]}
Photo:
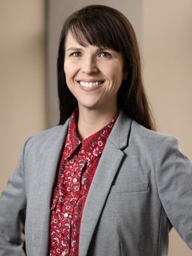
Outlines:
{"type": "Polygon", "coordinates": [[[0,1],[0,191],[28,136],[45,129],[44,0],[0,1]]]}

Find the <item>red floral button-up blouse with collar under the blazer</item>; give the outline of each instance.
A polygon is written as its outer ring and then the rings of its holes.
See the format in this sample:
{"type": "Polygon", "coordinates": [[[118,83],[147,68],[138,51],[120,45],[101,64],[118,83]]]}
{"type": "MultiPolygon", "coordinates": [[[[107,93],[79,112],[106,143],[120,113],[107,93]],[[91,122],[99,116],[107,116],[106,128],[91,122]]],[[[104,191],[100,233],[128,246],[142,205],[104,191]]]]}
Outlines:
{"type": "Polygon", "coordinates": [[[108,125],[83,141],[79,140],[76,132],[78,115],[76,111],[70,117],[58,174],[54,182],[49,256],[79,255],[79,231],[84,203],[118,113],[108,125]]]}

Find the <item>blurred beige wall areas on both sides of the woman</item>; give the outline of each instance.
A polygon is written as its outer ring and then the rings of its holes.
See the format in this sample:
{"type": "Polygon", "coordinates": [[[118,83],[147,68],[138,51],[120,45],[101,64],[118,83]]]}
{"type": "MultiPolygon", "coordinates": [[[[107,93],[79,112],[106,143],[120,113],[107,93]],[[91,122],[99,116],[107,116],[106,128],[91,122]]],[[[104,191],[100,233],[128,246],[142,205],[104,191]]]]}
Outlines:
{"type": "MultiPolygon", "coordinates": [[[[45,129],[43,0],[0,1],[0,191],[22,143],[45,129]]],[[[192,2],[143,0],[143,71],[159,131],[177,136],[192,159],[192,2]]],[[[191,255],[172,232],[169,256],[191,255]]]]}

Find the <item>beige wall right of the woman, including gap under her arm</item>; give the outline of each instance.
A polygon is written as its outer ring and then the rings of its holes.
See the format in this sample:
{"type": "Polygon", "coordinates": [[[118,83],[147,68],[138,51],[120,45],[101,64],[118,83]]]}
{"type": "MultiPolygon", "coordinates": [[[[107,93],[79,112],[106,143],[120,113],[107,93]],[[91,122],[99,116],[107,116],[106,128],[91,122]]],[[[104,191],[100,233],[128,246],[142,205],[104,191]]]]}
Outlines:
{"type": "MultiPolygon", "coordinates": [[[[143,1],[143,71],[160,132],[177,136],[192,159],[192,1],[143,1]]],[[[176,234],[169,256],[191,250],[176,234]]]]}

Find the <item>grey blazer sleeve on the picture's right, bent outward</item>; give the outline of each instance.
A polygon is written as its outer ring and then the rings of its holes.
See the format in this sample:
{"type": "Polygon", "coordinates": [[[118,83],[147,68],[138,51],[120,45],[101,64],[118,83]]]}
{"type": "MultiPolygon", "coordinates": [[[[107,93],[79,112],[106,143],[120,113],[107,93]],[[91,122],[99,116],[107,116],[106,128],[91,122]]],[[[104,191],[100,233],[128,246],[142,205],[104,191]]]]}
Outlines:
{"type": "Polygon", "coordinates": [[[173,136],[166,138],[159,147],[156,180],[168,219],[192,250],[192,164],[173,136]]]}

